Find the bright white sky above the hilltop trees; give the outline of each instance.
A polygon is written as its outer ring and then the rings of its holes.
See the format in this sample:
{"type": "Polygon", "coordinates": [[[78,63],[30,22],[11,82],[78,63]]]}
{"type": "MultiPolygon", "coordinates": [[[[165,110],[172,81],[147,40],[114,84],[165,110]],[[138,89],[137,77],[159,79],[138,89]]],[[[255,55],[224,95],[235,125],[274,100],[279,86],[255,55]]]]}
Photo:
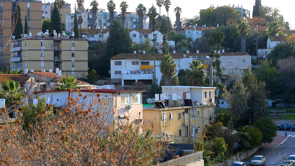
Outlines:
{"type": "MultiPolygon", "coordinates": [[[[84,8],[91,8],[90,2],[92,0],[84,0],[84,8]]],[[[98,1],[98,8],[99,9],[107,9],[106,4],[108,0],[97,0],[98,1]]],[[[116,10],[118,13],[120,10],[120,3],[123,0],[113,0],[116,4],[116,10]]],[[[129,5],[127,12],[135,12],[135,9],[138,4],[142,3],[147,11],[148,9],[154,4],[154,6],[157,8],[159,13],[159,7],[156,5],[155,0],[124,0],[127,1],[127,4],[129,5]]],[[[65,0],[65,2],[68,2],[71,4],[71,8],[74,9],[74,4],[76,0],[65,0]]],[[[180,15],[181,18],[192,18],[195,15],[199,15],[200,9],[207,9],[210,7],[210,5],[214,5],[216,7],[224,6],[224,5],[242,5],[244,9],[250,10],[250,16],[252,17],[252,11],[253,11],[253,5],[255,4],[255,0],[171,0],[171,6],[169,8],[169,17],[171,18],[171,21],[175,21],[175,12],[173,11],[176,6],[179,6],[182,9],[182,13],[180,15]]],[[[291,25],[290,28],[295,29],[295,19],[294,19],[294,6],[295,6],[295,0],[261,0],[261,4],[263,6],[269,6],[273,8],[278,8],[281,11],[281,14],[284,17],[285,22],[289,22],[291,25]]],[[[73,11],[73,10],[72,10],[73,11]]],[[[163,15],[165,12],[165,15],[167,15],[167,12],[164,7],[161,7],[161,15],[163,15]]]]}

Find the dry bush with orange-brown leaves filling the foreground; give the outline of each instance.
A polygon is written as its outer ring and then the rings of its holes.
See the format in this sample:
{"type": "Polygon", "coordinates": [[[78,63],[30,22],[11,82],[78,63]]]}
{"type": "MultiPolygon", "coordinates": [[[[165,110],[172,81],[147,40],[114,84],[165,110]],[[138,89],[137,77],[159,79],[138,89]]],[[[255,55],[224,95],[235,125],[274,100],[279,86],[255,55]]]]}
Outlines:
{"type": "Polygon", "coordinates": [[[50,118],[47,105],[28,130],[22,129],[22,117],[0,125],[0,165],[151,165],[161,152],[151,130],[141,134],[135,121],[110,120],[115,111],[109,110],[110,100],[96,95],[90,105],[69,96],[67,106],[50,118]]]}

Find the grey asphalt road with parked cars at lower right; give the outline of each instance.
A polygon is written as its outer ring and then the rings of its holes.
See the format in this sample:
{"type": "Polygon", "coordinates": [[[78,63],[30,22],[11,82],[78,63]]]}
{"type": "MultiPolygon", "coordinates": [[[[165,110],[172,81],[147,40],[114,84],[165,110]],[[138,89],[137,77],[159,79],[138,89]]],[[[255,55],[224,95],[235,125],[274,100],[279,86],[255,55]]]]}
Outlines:
{"type": "MultiPolygon", "coordinates": [[[[284,131],[278,131],[278,133],[285,135],[284,131]]],[[[283,157],[287,158],[290,155],[295,155],[295,143],[294,143],[295,132],[288,131],[287,137],[288,137],[288,140],[284,144],[279,146],[277,149],[273,150],[272,148],[260,148],[252,156],[247,157],[245,160],[243,160],[243,162],[250,162],[251,158],[253,158],[254,155],[263,155],[266,158],[266,165],[280,166],[281,164],[274,164],[274,163],[282,163],[283,157]],[[292,148],[289,148],[289,147],[292,147],[292,148]],[[271,152],[272,150],[273,152],[271,152]]],[[[246,163],[246,166],[249,166],[249,165],[250,164],[246,163]]]]}

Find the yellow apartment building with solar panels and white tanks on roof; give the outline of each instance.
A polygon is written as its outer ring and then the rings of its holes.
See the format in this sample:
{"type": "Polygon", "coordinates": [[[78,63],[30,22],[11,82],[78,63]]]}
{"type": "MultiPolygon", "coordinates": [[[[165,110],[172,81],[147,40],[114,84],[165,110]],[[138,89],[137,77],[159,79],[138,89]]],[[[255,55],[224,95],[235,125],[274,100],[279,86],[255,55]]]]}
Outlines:
{"type": "Polygon", "coordinates": [[[162,136],[161,141],[165,139],[165,142],[174,143],[194,142],[206,125],[214,123],[215,89],[162,86],[160,98],[159,94],[155,94],[155,98],[164,101],[165,108],[144,106],[143,128],[150,129],[153,126],[153,133],[162,136]]]}

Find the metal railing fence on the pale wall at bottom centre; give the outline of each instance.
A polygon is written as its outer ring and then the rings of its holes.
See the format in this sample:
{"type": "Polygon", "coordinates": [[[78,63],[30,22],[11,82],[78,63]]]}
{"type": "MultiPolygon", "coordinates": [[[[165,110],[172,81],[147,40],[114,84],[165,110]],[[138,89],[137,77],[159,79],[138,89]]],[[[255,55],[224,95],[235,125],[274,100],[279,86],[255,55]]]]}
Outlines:
{"type": "Polygon", "coordinates": [[[167,162],[159,163],[158,165],[154,165],[154,166],[186,165],[186,164],[189,164],[198,160],[202,160],[202,159],[203,159],[203,151],[198,151],[196,153],[179,157],[177,159],[169,160],[167,162]]]}

